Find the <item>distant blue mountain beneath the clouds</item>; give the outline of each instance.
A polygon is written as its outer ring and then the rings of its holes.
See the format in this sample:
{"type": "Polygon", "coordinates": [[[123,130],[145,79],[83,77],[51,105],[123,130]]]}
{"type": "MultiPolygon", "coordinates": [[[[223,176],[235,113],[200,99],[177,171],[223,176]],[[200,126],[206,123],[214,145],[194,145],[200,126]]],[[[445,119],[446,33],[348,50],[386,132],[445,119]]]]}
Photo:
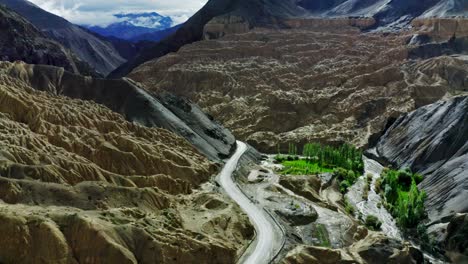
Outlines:
{"type": "Polygon", "coordinates": [[[174,23],[170,17],[162,16],[156,12],[116,14],[114,16],[119,22],[112,23],[106,27],[89,26],[87,28],[102,36],[130,40],[140,35],[168,29],[174,23]]]}

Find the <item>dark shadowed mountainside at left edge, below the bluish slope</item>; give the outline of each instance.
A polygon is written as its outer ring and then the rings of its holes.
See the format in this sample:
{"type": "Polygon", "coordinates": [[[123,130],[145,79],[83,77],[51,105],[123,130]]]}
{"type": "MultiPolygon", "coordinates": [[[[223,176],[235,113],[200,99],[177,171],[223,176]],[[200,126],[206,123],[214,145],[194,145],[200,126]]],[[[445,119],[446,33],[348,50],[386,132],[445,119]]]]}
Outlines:
{"type": "Polygon", "coordinates": [[[73,73],[94,75],[93,69],[60,43],[48,39],[29,21],[0,5],[0,58],[50,64],[73,73]]]}

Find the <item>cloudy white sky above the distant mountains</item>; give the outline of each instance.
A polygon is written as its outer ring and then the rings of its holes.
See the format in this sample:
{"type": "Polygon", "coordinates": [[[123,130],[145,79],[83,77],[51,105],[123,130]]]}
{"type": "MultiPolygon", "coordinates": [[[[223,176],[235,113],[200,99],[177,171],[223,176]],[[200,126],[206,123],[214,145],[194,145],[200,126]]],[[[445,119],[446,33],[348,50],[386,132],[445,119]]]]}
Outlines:
{"type": "Polygon", "coordinates": [[[106,26],[116,22],[113,14],[158,12],[176,24],[185,22],[208,0],[29,0],[75,24],[106,26]]]}

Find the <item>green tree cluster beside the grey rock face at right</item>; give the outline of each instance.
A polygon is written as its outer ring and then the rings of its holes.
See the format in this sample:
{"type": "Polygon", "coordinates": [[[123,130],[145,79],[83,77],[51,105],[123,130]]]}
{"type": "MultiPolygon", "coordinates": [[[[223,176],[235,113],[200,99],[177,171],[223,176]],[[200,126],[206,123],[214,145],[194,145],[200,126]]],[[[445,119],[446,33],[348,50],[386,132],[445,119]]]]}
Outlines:
{"type": "Polygon", "coordinates": [[[387,210],[402,228],[415,228],[427,215],[424,209],[426,193],[418,189],[423,176],[410,170],[385,169],[382,182],[376,185],[387,210]]]}

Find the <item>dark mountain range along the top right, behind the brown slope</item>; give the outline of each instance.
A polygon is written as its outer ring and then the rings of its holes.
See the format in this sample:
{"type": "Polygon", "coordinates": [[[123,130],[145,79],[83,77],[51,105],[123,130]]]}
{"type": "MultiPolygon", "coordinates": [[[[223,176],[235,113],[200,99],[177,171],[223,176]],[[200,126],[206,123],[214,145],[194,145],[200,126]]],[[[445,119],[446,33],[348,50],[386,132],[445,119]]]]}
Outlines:
{"type": "Polygon", "coordinates": [[[463,0],[210,0],[174,35],[141,51],[110,76],[125,76],[146,61],[203,38],[246,32],[253,27],[289,27],[285,21],[290,19],[369,17],[375,20],[370,27],[398,29],[420,16],[467,14],[463,0]]]}

